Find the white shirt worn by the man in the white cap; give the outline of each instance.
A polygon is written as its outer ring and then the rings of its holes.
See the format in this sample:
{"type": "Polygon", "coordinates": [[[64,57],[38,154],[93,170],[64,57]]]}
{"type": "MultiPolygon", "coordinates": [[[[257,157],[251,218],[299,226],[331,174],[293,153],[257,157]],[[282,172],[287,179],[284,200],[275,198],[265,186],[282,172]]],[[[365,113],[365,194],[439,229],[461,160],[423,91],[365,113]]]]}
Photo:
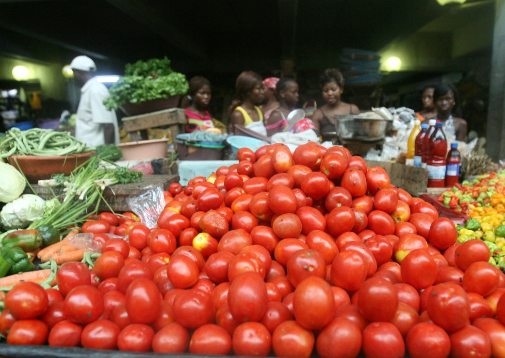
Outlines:
{"type": "Polygon", "coordinates": [[[119,143],[116,112],[108,111],[103,103],[108,97],[109,90],[95,77],[89,79],[81,88],[81,100],[75,120],[75,138],[90,147],[105,144],[102,124],[108,123],[114,124],[115,144],[119,143]]]}

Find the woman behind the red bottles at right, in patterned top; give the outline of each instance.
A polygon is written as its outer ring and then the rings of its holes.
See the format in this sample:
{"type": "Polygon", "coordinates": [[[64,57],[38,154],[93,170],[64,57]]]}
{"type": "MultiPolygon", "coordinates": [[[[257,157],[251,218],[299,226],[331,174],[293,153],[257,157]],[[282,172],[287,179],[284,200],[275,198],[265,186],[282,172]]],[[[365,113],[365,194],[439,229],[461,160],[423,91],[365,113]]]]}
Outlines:
{"type": "Polygon", "coordinates": [[[452,84],[437,85],[433,92],[433,99],[437,108],[435,119],[443,123],[442,128],[446,135],[452,136],[457,141],[465,142],[468,130],[467,121],[463,118],[452,116],[452,109],[458,99],[458,90],[456,87],[452,84]]]}

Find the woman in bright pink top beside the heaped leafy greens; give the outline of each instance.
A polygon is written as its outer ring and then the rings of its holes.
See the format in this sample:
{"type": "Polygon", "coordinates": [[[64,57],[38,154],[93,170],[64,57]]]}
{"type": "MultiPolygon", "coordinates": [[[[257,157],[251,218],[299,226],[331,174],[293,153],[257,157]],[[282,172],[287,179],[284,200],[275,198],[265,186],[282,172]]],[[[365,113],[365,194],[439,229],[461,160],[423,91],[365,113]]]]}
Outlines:
{"type": "Polygon", "coordinates": [[[209,128],[218,128],[226,131],[226,126],[211,117],[207,107],[211,102],[211,82],[201,76],[195,76],[189,80],[189,89],[187,95],[181,101],[181,107],[188,119],[186,132],[193,130],[206,130],[209,128]]]}

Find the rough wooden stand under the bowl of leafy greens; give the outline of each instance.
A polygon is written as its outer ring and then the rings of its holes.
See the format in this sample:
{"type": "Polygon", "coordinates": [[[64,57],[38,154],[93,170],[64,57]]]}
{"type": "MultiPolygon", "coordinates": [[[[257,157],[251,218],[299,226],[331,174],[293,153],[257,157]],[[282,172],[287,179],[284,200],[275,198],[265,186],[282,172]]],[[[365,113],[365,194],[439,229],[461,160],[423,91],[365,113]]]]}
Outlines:
{"type": "Polygon", "coordinates": [[[179,133],[184,133],[186,121],[186,115],[182,108],[170,108],[164,109],[163,111],[124,117],[123,126],[125,130],[130,133],[132,141],[140,139],[148,140],[147,129],[149,128],[168,126],[170,128],[172,142],[177,149],[175,137],[177,137],[179,133]],[[140,131],[141,138],[138,138],[137,131],[140,131]]]}

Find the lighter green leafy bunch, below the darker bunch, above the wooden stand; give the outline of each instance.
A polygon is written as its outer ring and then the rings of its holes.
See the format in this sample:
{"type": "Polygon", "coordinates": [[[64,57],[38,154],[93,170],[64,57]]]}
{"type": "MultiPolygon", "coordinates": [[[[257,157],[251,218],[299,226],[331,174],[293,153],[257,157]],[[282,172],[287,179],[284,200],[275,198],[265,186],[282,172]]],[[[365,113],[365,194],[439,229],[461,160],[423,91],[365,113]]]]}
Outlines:
{"type": "Polygon", "coordinates": [[[186,76],[172,72],[166,76],[124,76],[109,90],[110,97],[104,100],[108,110],[118,109],[126,103],[140,103],[159,98],[185,95],[189,85],[186,76]]]}

